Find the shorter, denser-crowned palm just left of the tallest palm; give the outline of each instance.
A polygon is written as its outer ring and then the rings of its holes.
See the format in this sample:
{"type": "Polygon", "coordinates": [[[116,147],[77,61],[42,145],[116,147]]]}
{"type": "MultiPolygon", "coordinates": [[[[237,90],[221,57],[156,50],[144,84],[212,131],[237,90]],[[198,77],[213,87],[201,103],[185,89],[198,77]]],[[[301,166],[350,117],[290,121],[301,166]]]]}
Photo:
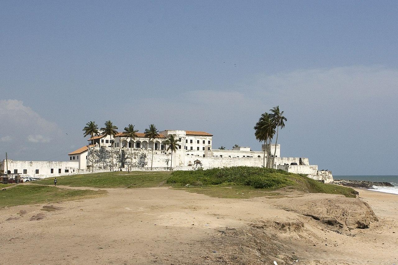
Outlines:
{"type": "Polygon", "coordinates": [[[256,139],[260,142],[264,141],[263,167],[269,167],[269,146],[271,145],[271,139],[275,134],[275,124],[273,123],[271,116],[266,112],[261,114],[261,117],[254,126],[254,130],[256,139]],[[265,147],[267,147],[267,164],[265,164],[265,147]]]}

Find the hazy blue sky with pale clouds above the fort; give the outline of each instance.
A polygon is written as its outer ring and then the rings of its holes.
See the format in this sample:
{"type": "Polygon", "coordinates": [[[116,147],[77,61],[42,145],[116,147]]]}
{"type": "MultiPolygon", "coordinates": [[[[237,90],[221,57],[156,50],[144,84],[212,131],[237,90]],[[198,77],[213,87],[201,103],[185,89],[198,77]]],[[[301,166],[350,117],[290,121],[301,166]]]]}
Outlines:
{"type": "Polygon", "coordinates": [[[396,1],[1,1],[0,159],[66,160],[82,129],[214,134],[334,175],[397,175],[396,1]],[[275,140],[274,140],[275,142],[275,140]]]}

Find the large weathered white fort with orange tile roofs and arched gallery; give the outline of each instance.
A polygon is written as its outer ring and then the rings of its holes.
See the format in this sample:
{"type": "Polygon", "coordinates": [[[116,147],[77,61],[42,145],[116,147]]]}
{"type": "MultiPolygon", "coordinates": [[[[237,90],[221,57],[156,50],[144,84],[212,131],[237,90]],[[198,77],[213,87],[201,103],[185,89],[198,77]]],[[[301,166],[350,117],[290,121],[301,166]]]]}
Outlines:
{"type": "MultiPolygon", "coordinates": [[[[78,162],[79,172],[109,171],[111,168],[111,147],[114,170],[150,170],[153,150],[152,170],[196,170],[197,168],[218,168],[230,166],[263,166],[263,156],[267,152],[252,151],[250,147],[234,147],[232,150],[213,149],[213,134],[203,131],[165,130],[158,138],[149,141],[144,133],[137,133],[130,139],[123,133],[114,137],[103,134],[88,140],[88,145],[68,154],[70,162],[78,162]],[[178,139],[178,149],[167,151],[165,141],[173,134],[178,139]]],[[[310,165],[308,158],[281,157],[280,144],[271,144],[272,167],[292,173],[308,174],[313,179],[333,181],[330,171],[318,171],[317,165],[310,165]],[[276,148],[276,152],[275,152],[276,148]],[[273,154],[275,152],[275,157],[273,154]]]]}

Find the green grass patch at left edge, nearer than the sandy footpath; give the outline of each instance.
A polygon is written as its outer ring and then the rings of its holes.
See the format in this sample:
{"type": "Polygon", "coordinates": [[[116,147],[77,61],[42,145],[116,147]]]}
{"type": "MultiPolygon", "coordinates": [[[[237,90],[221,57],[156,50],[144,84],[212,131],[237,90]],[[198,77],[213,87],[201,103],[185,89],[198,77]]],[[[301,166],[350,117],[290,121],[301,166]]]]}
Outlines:
{"type": "Polygon", "coordinates": [[[15,185],[5,191],[0,191],[0,208],[29,205],[36,203],[54,203],[76,199],[93,198],[106,194],[107,191],[60,189],[41,185],[15,185]]]}

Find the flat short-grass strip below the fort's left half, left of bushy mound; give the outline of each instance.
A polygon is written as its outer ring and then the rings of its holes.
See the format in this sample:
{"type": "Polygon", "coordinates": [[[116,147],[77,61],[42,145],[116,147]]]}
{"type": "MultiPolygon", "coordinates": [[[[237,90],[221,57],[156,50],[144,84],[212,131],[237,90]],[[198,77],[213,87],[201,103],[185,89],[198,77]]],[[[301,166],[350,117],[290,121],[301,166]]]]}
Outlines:
{"type": "MultiPolygon", "coordinates": [[[[169,176],[170,172],[167,171],[104,172],[57,177],[57,185],[94,188],[148,188],[163,185],[169,176]]],[[[42,179],[34,183],[54,185],[54,178],[42,179]]]]}

